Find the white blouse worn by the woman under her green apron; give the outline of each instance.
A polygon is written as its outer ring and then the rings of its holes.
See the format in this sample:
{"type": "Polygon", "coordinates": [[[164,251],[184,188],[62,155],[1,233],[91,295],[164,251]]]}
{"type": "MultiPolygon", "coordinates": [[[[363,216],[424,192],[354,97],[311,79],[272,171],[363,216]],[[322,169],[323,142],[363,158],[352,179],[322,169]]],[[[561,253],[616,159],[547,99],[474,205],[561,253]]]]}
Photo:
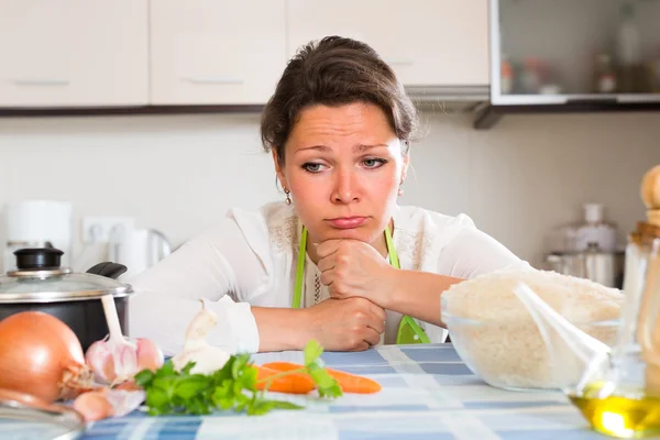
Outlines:
{"type": "MultiPolygon", "coordinates": [[[[472,278],[486,272],[527,266],[472,220],[417,207],[395,210],[393,241],[400,267],[472,278]]],[[[256,211],[232,209],[212,230],[130,280],[129,334],[148,338],[165,354],[183,350],[186,329],[206,307],[218,315],[211,344],[231,353],[258,351],[251,306],[292,307],[301,224],[292,206],[272,202],[256,211]]],[[[301,307],[329,298],[320,273],[306,257],[301,307]]],[[[384,343],[394,343],[402,315],[387,311],[384,343]]],[[[447,330],[418,321],[431,342],[447,330]]]]}

